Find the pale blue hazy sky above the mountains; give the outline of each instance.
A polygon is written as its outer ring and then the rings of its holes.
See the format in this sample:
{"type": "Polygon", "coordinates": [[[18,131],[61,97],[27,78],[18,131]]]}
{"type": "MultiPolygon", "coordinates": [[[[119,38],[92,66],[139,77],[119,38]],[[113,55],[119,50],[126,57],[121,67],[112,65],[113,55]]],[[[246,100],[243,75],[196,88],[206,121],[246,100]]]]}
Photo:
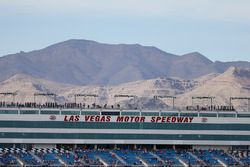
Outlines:
{"type": "Polygon", "coordinates": [[[250,61],[250,0],[0,0],[0,55],[68,39],[250,61]]]}

